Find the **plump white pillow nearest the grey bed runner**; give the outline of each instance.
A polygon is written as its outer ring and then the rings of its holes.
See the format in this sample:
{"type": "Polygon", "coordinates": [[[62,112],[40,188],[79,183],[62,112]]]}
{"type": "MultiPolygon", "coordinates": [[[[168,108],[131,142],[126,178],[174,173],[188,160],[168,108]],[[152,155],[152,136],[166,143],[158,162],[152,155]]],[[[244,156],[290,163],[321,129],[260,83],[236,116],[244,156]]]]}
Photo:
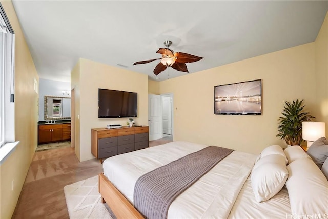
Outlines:
{"type": "Polygon", "coordinates": [[[262,202],[275,196],[284,186],[287,177],[285,157],[271,154],[260,158],[251,173],[255,200],[262,202]]]}

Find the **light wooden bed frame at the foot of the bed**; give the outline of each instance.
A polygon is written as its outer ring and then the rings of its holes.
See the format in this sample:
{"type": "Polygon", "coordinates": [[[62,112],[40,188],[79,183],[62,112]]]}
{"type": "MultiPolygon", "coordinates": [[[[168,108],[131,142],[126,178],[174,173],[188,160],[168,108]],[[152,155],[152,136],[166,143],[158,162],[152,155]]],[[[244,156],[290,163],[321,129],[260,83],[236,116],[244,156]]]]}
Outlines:
{"type": "Polygon", "coordinates": [[[101,201],[107,203],[118,219],[144,218],[127,198],[108,180],[104,173],[99,174],[98,190],[101,194],[101,201]]]}

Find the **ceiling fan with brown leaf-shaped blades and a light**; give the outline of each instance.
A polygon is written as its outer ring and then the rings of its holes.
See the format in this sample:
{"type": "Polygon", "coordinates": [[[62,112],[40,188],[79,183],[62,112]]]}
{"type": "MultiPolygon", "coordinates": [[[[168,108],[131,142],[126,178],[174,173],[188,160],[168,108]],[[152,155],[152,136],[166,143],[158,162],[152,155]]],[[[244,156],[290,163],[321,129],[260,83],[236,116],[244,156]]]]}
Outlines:
{"type": "Polygon", "coordinates": [[[133,65],[146,64],[161,59],[160,63],[158,63],[154,69],[154,74],[158,75],[160,72],[164,71],[167,67],[172,67],[177,71],[189,72],[186,63],[193,63],[202,59],[202,57],[198,57],[196,55],[191,55],[188,53],[183,53],[183,52],[174,53],[173,50],[169,49],[169,46],[171,46],[171,44],[172,41],[165,41],[164,45],[167,48],[159,48],[157,50],[156,53],[161,54],[162,55],[161,58],[136,62],[133,65]]]}

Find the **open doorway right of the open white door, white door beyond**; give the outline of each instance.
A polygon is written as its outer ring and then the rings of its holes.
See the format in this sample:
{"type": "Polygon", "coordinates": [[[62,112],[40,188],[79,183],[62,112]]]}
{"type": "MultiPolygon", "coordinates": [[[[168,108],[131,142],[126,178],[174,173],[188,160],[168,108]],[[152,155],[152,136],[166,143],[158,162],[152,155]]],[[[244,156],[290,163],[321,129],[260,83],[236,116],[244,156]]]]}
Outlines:
{"type": "Polygon", "coordinates": [[[173,94],[162,94],[163,138],[173,141],[173,94]]]}

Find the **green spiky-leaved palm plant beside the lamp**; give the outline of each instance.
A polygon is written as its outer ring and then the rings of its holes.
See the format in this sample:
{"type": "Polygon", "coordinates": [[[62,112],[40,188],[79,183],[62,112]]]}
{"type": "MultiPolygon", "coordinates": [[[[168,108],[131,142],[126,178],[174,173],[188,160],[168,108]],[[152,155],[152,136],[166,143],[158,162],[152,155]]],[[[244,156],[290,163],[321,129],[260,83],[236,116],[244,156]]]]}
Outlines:
{"type": "Polygon", "coordinates": [[[309,112],[304,112],[303,99],[301,101],[293,101],[292,103],[285,101],[284,108],[281,112],[283,116],[279,117],[278,134],[280,139],[284,139],[288,145],[301,145],[302,142],[302,122],[311,121],[313,118],[309,112]]]}

